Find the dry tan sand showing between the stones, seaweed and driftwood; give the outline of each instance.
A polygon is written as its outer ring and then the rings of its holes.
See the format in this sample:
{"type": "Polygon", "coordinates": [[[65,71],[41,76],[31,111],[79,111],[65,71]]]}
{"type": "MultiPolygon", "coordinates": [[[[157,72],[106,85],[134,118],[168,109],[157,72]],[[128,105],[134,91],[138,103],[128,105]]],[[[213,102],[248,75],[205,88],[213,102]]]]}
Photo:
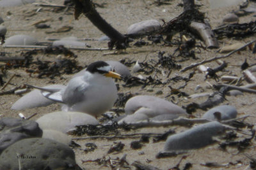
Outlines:
{"type": "MultiPolygon", "coordinates": [[[[56,1],[49,1],[51,3],[55,4],[63,4],[63,1],[56,0],[56,1]]],[[[165,4],[161,6],[157,6],[154,1],[95,1],[99,4],[104,4],[104,8],[97,8],[100,15],[104,17],[105,20],[107,20],[113,27],[115,27],[118,31],[125,33],[127,30],[127,27],[135,22],[140,22],[142,20],[148,20],[148,19],[156,19],[156,20],[165,20],[169,21],[174,17],[177,17],[180,13],[182,13],[182,7],[178,6],[181,1],[168,1],[170,4],[165,4]]],[[[44,3],[44,1],[42,1],[44,3]]],[[[198,1],[198,3],[203,4],[201,6],[200,11],[205,12],[206,17],[209,18],[209,22],[212,25],[212,27],[216,27],[217,25],[221,24],[221,20],[225,14],[227,14],[229,11],[232,10],[238,10],[239,6],[231,6],[228,8],[220,8],[220,9],[209,9],[209,4],[205,1],[198,1]]],[[[95,26],[92,25],[92,23],[84,16],[81,15],[79,17],[79,20],[74,20],[74,16],[72,15],[73,10],[68,10],[65,12],[65,10],[61,11],[54,11],[54,8],[51,7],[40,7],[35,6],[34,4],[26,4],[25,6],[19,6],[19,7],[13,7],[13,8],[3,8],[0,10],[0,16],[4,19],[4,25],[6,25],[8,32],[6,34],[6,38],[13,36],[15,34],[28,34],[31,36],[34,36],[38,39],[38,41],[46,41],[45,38],[63,38],[66,36],[77,36],[78,38],[100,38],[100,36],[103,36],[104,34],[100,32],[95,26]],[[40,11],[36,13],[36,10],[39,8],[40,11]],[[60,20],[60,17],[62,20],[60,20]],[[44,18],[51,18],[51,21],[46,22],[46,24],[51,25],[51,28],[49,29],[36,29],[35,26],[31,25],[36,21],[43,20],[44,18]],[[46,34],[45,31],[51,31],[56,30],[60,28],[63,25],[69,25],[72,26],[73,29],[69,32],[63,32],[63,33],[52,33],[52,34],[46,34]]],[[[255,17],[253,15],[247,15],[246,17],[241,17],[240,22],[248,22],[250,20],[255,20],[255,17]]],[[[225,38],[220,40],[220,46],[228,45],[230,43],[236,43],[236,42],[248,42],[253,40],[253,36],[243,39],[233,39],[233,38],[225,38]]],[[[107,48],[107,42],[99,42],[99,41],[86,41],[89,45],[91,45],[93,48],[107,48]]],[[[198,42],[200,42],[198,40],[198,42]]],[[[143,60],[150,60],[155,59],[157,60],[157,53],[159,51],[164,51],[166,53],[173,53],[175,48],[177,46],[161,46],[161,45],[147,45],[143,46],[141,48],[138,48],[136,46],[132,46],[131,48],[127,48],[125,53],[119,54],[119,55],[104,55],[105,52],[101,51],[81,51],[81,50],[72,50],[78,58],[78,62],[81,66],[85,66],[86,64],[90,64],[91,62],[94,62],[96,60],[120,60],[124,58],[129,58],[131,60],[140,60],[142,62],[143,60]]],[[[0,46],[0,52],[6,52],[7,56],[19,56],[21,50],[24,50],[23,48],[3,48],[0,46]]],[[[217,52],[216,49],[214,50],[203,50],[202,48],[196,49],[196,60],[195,59],[188,59],[184,62],[179,62],[179,64],[182,67],[188,66],[192,62],[199,62],[200,60],[209,59],[210,57],[216,57],[220,54],[217,52]]],[[[33,57],[38,57],[38,59],[41,60],[54,60],[54,57],[56,55],[44,55],[42,53],[38,55],[34,55],[33,57]]],[[[175,60],[181,60],[182,57],[177,57],[175,60]]],[[[255,60],[255,54],[252,54],[252,51],[250,50],[244,50],[241,51],[241,53],[235,53],[232,56],[225,59],[228,62],[228,71],[232,71],[233,75],[241,76],[241,69],[240,66],[243,64],[244,59],[247,59],[248,63],[254,64],[256,62],[255,60]]],[[[218,64],[216,62],[210,62],[208,64],[205,64],[205,66],[209,67],[216,67],[218,64]]],[[[132,69],[132,67],[130,67],[132,69]]],[[[166,70],[168,73],[168,70],[166,70]]],[[[170,78],[179,75],[179,76],[186,76],[188,77],[188,74],[191,73],[192,70],[189,70],[185,73],[179,73],[179,70],[172,70],[172,73],[170,74],[170,78]]],[[[230,74],[230,72],[222,72],[219,75],[222,74],[230,74]]],[[[54,80],[51,80],[50,78],[36,78],[36,74],[32,74],[29,76],[28,73],[26,73],[24,68],[17,68],[17,69],[8,69],[7,70],[7,76],[4,77],[4,81],[7,81],[12,74],[17,74],[20,76],[15,76],[12,80],[12,83],[19,86],[23,85],[24,83],[28,83],[31,85],[37,85],[37,86],[45,86],[50,85],[52,83],[61,83],[61,84],[67,84],[67,81],[70,80],[70,77],[72,75],[70,74],[63,74],[61,77],[56,77],[54,80]]],[[[134,76],[138,75],[138,73],[132,73],[134,76]]],[[[152,74],[152,76],[154,73],[152,74]]],[[[148,75],[143,75],[148,76],[148,75]]],[[[166,78],[163,77],[161,74],[157,74],[159,78],[162,78],[163,81],[166,80],[166,78]]],[[[210,83],[214,84],[216,81],[214,79],[208,79],[210,83]]],[[[183,92],[186,92],[188,94],[194,94],[194,89],[196,85],[202,85],[205,82],[204,74],[202,73],[196,73],[195,76],[191,79],[191,81],[188,82],[188,85],[181,89],[183,92]]],[[[123,82],[119,82],[120,86],[122,87],[123,82]]],[[[183,85],[184,81],[174,82],[172,81],[169,85],[171,85],[173,88],[177,88],[180,85],[183,85]]],[[[8,85],[5,90],[12,89],[12,85],[8,85]]],[[[141,89],[141,87],[132,87],[132,88],[121,88],[120,92],[131,92],[132,94],[138,93],[138,94],[149,94],[149,95],[156,95],[156,92],[162,90],[163,94],[158,95],[158,97],[166,97],[168,94],[170,94],[170,88],[168,88],[168,85],[157,85],[155,87],[148,86],[145,89],[141,89]],[[153,88],[153,92],[148,92],[148,88],[153,88]]],[[[206,92],[212,92],[212,90],[206,90],[206,92]]],[[[156,95],[157,96],[157,95],[156,95]]],[[[206,97],[200,98],[200,99],[185,99],[184,97],[178,97],[177,95],[172,95],[175,100],[173,100],[172,97],[167,97],[166,99],[169,101],[174,101],[179,106],[186,106],[189,103],[196,102],[200,103],[202,101],[205,101],[207,99],[206,97]]],[[[45,113],[49,113],[52,111],[60,110],[60,106],[58,104],[53,104],[51,106],[42,107],[42,108],[35,108],[35,109],[28,109],[28,110],[22,110],[22,111],[14,111],[10,110],[11,106],[15,101],[17,101],[20,98],[20,96],[17,96],[15,94],[10,95],[4,95],[1,96],[0,99],[0,115],[1,117],[18,117],[18,113],[22,112],[26,117],[29,115],[32,115],[33,113],[38,113],[35,117],[33,117],[33,120],[36,120],[36,118],[41,117],[45,113]]],[[[253,117],[250,117],[246,120],[246,122],[255,125],[255,94],[246,94],[244,93],[243,96],[238,97],[227,97],[227,101],[224,101],[223,104],[230,104],[232,106],[235,106],[239,112],[239,117],[244,115],[252,115],[253,117]]],[[[204,111],[197,110],[196,113],[193,113],[193,115],[200,116],[204,114],[204,111]]],[[[156,133],[163,133],[168,131],[169,129],[175,129],[176,132],[184,131],[185,127],[147,127],[147,128],[141,128],[136,129],[133,131],[125,132],[120,130],[121,134],[132,134],[132,133],[148,133],[148,132],[156,132],[156,133]]],[[[239,134],[242,135],[242,134],[239,134]]],[[[85,135],[86,136],[86,135],[85,135]]],[[[74,136],[76,138],[77,136],[74,136]]],[[[246,138],[249,138],[249,136],[246,136],[246,138]]],[[[218,162],[219,164],[227,164],[229,162],[232,162],[232,164],[229,164],[229,166],[219,167],[216,169],[246,169],[250,165],[250,159],[246,157],[244,154],[250,155],[252,157],[255,157],[255,140],[252,140],[252,145],[250,145],[250,148],[246,148],[242,152],[239,152],[237,148],[228,148],[228,150],[224,151],[221,150],[218,147],[218,144],[207,146],[206,148],[194,150],[188,153],[184,153],[182,155],[178,155],[177,157],[171,157],[171,158],[164,158],[164,159],[156,159],[156,154],[163,150],[164,141],[161,141],[159,143],[152,143],[152,138],[150,138],[149,143],[145,143],[143,148],[140,150],[132,150],[130,148],[131,141],[138,140],[138,139],[84,139],[76,141],[81,145],[81,148],[75,148],[74,152],[76,152],[76,159],[78,164],[81,165],[81,167],[84,167],[85,169],[111,169],[109,164],[106,164],[106,166],[103,166],[103,164],[97,164],[97,162],[86,162],[82,164],[82,160],[95,160],[95,159],[102,159],[102,157],[106,157],[106,159],[112,159],[113,164],[115,165],[114,159],[121,158],[124,153],[127,153],[127,162],[129,163],[129,166],[131,169],[134,169],[133,166],[131,166],[132,162],[138,160],[143,164],[150,164],[152,166],[158,167],[160,169],[170,169],[176,164],[178,164],[179,160],[186,155],[187,158],[185,160],[182,160],[180,163],[180,169],[184,167],[184,165],[188,162],[192,164],[191,169],[209,169],[209,167],[204,167],[201,164],[205,164],[205,162],[218,162]],[[108,154],[108,150],[110,146],[114,142],[119,142],[125,144],[124,149],[121,152],[114,152],[108,154]],[[85,143],[95,143],[97,145],[97,149],[93,152],[85,153],[83,149],[85,148],[85,143]],[[143,152],[144,154],[139,154],[140,152],[143,152]],[[239,162],[239,163],[237,163],[239,162]]],[[[115,165],[118,167],[117,165],[115,165]]],[[[129,169],[127,167],[127,169],[129,169]]],[[[125,169],[124,167],[120,167],[120,169],[125,169]]]]}

